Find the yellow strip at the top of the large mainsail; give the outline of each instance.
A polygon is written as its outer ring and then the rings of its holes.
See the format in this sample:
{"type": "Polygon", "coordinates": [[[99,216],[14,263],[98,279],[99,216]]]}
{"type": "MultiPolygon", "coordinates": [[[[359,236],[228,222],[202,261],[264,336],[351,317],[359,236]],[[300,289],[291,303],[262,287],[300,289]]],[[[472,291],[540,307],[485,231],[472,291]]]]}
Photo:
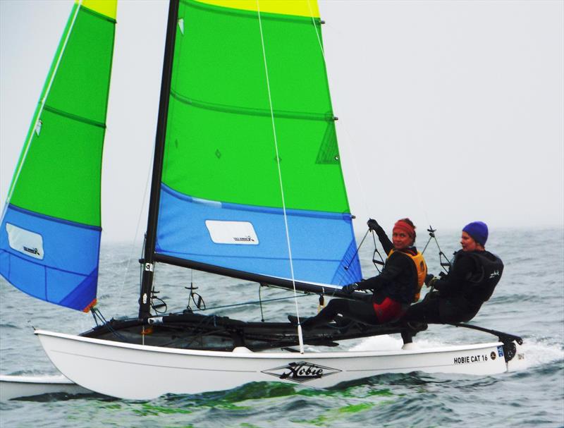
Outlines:
{"type": "Polygon", "coordinates": [[[225,8],[319,18],[317,0],[198,0],[225,8]]]}

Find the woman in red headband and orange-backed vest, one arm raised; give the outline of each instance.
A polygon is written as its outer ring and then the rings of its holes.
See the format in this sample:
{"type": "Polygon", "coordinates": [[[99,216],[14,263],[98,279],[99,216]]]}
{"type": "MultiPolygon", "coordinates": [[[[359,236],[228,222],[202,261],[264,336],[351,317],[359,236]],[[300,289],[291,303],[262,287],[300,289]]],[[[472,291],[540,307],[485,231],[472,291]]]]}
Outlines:
{"type": "MultiPolygon", "coordinates": [[[[392,240],[384,229],[369,219],[368,227],[378,235],[388,259],[381,274],[343,287],[346,293],[372,290],[369,300],[332,299],[319,314],[302,322],[304,329],[328,324],[338,314],[364,324],[383,324],[400,318],[407,307],[419,298],[419,290],[427,275],[427,265],[415,244],[415,226],[410,219],[400,219],[393,226],[392,240]]],[[[288,315],[291,323],[298,318],[288,315]]]]}

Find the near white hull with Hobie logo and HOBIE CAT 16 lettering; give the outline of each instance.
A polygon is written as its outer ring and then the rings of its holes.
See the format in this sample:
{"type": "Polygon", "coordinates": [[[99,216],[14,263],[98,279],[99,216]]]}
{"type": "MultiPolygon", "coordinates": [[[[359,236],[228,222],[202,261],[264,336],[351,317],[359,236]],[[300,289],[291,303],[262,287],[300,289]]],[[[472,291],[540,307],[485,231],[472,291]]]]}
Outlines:
{"type": "Polygon", "coordinates": [[[182,350],[42,330],[35,334],[51,362],[68,379],[92,391],[128,399],[221,391],[252,381],[326,388],[382,373],[488,375],[508,371],[500,342],[424,350],[300,354],[252,353],[246,348],[235,352],[182,350]]]}

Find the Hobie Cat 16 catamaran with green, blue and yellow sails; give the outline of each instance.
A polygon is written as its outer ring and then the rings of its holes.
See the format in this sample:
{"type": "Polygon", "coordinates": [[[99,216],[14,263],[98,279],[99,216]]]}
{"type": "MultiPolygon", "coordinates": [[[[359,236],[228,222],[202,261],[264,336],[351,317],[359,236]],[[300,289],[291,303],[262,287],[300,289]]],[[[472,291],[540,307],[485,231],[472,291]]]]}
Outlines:
{"type": "MultiPolygon", "coordinates": [[[[116,10],[116,0],[73,6],[0,227],[7,281],[94,314],[116,10]]],[[[329,352],[340,341],[406,327],[351,323],[302,331],[288,322],[157,310],[153,280],[161,264],[295,294],[365,297],[341,291],[362,271],[322,24],[314,0],[170,1],[142,279],[132,296],[139,312],[78,336],[35,331],[72,383],[150,399],[251,381],[324,388],[388,372],[488,375],[522,365],[520,338],[477,326],[470,327],[498,339],[329,352]]]]}

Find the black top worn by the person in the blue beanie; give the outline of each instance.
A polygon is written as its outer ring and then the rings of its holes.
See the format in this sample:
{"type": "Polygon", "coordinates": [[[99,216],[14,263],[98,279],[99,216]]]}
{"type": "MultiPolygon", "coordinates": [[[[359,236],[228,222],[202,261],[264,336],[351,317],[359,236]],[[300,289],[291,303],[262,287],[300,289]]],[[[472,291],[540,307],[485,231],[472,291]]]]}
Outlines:
{"type": "Polygon", "coordinates": [[[503,262],[489,251],[458,251],[448,275],[434,288],[458,305],[477,310],[494,293],[503,273],[503,262]]]}

